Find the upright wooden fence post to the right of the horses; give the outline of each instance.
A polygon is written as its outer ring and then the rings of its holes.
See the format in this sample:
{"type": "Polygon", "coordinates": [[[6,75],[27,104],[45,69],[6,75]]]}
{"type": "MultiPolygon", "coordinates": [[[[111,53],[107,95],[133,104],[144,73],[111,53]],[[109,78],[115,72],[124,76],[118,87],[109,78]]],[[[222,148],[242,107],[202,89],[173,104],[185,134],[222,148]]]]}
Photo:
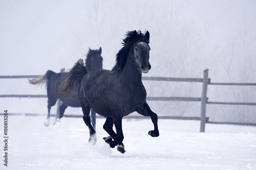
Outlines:
{"type": "Polygon", "coordinates": [[[205,112],[206,112],[206,102],[207,102],[208,71],[209,69],[204,70],[203,89],[202,89],[202,97],[201,97],[200,132],[205,132],[205,123],[206,123],[205,112]]]}

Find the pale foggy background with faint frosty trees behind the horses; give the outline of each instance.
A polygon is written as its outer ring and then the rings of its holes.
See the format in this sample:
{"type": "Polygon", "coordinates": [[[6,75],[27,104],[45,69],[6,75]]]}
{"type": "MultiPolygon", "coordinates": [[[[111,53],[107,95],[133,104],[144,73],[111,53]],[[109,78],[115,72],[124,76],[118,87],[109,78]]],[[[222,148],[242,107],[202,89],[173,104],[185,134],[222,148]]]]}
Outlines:
{"type": "MultiPolygon", "coordinates": [[[[151,70],[142,76],[255,83],[256,1],[1,1],[0,75],[69,69],[102,47],[112,69],[127,31],[150,32],[151,70]],[[66,36],[66,37],[65,37],[66,36]],[[59,43],[59,44],[58,44],[59,43]]],[[[0,94],[46,94],[27,79],[0,79],[0,94]]],[[[201,97],[202,83],[143,81],[147,96],[201,97]],[[190,88],[190,90],[187,90],[190,88]]],[[[256,102],[255,86],[208,86],[208,101],[256,102]]],[[[158,115],[199,116],[200,102],[148,101],[158,115]]],[[[0,98],[0,112],[47,114],[47,98],[0,98]]],[[[256,122],[255,106],[207,104],[210,121],[256,122]]],[[[51,114],[56,113],[56,106],[51,114]]],[[[80,114],[68,107],[64,113],[80,114]]]]}

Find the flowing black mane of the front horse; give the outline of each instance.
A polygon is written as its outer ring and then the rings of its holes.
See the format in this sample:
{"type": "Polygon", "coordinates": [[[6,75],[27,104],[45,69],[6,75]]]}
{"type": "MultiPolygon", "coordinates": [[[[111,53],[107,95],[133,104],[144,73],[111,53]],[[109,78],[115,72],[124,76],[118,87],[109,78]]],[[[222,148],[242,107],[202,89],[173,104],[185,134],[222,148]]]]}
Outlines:
{"type": "Polygon", "coordinates": [[[112,68],[112,71],[120,73],[123,70],[124,65],[126,63],[126,60],[128,58],[130,47],[133,46],[134,42],[137,42],[138,40],[140,40],[140,41],[143,41],[143,42],[146,42],[146,43],[149,44],[149,40],[147,40],[145,38],[146,34],[141,33],[141,31],[137,31],[137,36],[134,39],[133,32],[134,31],[128,31],[125,34],[126,37],[124,39],[122,39],[123,40],[123,43],[122,43],[123,48],[121,48],[118,51],[118,53],[116,54],[116,59],[115,59],[116,60],[116,64],[112,68]]]}

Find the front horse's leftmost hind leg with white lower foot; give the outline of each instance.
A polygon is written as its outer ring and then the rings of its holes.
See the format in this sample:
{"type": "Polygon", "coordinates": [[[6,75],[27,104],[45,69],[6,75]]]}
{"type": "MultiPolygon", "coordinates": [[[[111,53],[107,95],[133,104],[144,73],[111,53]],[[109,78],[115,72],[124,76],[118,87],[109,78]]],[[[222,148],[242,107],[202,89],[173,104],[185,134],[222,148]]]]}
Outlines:
{"type": "Polygon", "coordinates": [[[93,129],[92,124],[91,124],[91,118],[90,118],[91,107],[89,105],[89,102],[86,99],[79,99],[79,100],[80,100],[80,104],[81,104],[82,111],[83,111],[83,121],[88,126],[88,128],[90,130],[89,142],[91,142],[92,145],[95,145],[97,138],[95,135],[96,132],[93,129]]]}

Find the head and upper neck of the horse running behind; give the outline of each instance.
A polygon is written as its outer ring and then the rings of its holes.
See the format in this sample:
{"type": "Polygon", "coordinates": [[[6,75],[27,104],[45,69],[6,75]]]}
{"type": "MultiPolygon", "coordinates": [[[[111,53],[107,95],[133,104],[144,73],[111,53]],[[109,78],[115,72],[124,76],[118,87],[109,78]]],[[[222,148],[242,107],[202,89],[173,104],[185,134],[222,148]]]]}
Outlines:
{"type": "Polygon", "coordinates": [[[87,71],[102,69],[102,60],[101,57],[101,47],[99,50],[91,50],[89,48],[89,52],[86,58],[86,69],[87,71]]]}

